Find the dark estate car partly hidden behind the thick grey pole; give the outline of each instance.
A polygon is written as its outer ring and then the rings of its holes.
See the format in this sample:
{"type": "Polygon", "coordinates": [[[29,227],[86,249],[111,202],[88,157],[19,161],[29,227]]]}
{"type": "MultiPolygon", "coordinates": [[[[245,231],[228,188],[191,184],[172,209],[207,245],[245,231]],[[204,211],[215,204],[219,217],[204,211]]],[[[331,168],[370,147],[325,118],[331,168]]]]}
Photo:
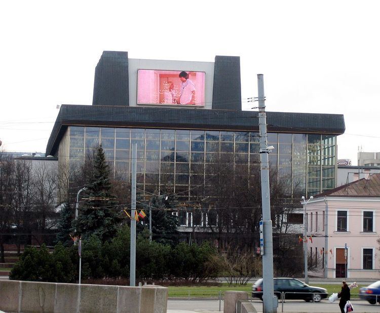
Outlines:
{"type": "MultiPolygon", "coordinates": [[[[285,299],[301,299],[305,301],[319,302],[327,297],[327,290],[320,287],[309,286],[295,278],[275,278],[275,295],[280,299],[284,292],[285,299]]],[[[262,278],[252,286],[252,298],[262,300],[262,278]]]]}

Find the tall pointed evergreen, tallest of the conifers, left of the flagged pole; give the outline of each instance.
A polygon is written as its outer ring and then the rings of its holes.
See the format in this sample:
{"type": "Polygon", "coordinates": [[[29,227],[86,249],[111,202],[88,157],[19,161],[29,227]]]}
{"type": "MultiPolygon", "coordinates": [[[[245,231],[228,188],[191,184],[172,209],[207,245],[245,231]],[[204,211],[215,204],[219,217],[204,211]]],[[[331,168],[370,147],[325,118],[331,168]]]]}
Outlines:
{"type": "Polygon", "coordinates": [[[87,199],[80,208],[77,222],[74,223],[78,233],[76,235],[84,240],[95,235],[101,242],[109,241],[118,231],[121,214],[115,197],[111,195],[110,170],[101,145],[96,150],[88,177],[87,199]]]}

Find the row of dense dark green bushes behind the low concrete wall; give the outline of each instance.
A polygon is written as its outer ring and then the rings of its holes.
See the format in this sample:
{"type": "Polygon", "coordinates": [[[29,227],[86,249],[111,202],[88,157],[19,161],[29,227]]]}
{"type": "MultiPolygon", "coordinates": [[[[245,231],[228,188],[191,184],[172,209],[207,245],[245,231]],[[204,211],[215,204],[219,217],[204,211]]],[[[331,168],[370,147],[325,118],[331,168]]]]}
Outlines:
{"type": "MultiPolygon", "coordinates": [[[[217,251],[208,243],[179,243],[174,247],[149,242],[147,233],[136,241],[136,278],[147,281],[187,280],[205,282],[217,277],[217,251]]],[[[82,279],[129,278],[130,229],[124,227],[104,244],[93,236],[82,242],[82,279]]],[[[25,248],[10,279],[75,282],[78,280],[78,247],[58,243],[53,253],[45,246],[25,248]]]]}

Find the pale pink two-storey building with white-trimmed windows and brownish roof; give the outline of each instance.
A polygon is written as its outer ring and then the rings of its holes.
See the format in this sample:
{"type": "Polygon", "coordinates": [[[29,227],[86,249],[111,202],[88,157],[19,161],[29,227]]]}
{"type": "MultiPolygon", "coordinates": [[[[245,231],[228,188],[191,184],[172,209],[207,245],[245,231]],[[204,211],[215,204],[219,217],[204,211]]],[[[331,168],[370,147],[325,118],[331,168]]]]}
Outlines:
{"type": "Polygon", "coordinates": [[[380,174],[315,196],[306,212],[309,275],[380,279],[380,174]]]}

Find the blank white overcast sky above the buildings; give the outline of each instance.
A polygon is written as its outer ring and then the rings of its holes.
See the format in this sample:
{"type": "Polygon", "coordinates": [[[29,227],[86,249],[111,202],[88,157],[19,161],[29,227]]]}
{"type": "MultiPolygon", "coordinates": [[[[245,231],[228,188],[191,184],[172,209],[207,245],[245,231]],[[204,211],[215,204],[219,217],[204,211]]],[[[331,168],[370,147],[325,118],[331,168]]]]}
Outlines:
{"type": "MultiPolygon", "coordinates": [[[[380,151],[378,1],[7,1],[0,4],[0,139],[45,152],[60,104],[92,104],[104,50],[129,58],[241,57],[268,111],[344,114],[338,158],[380,151]],[[61,5],[58,5],[60,3],[61,5]]],[[[243,109],[253,105],[243,102],[243,109]]]]}

